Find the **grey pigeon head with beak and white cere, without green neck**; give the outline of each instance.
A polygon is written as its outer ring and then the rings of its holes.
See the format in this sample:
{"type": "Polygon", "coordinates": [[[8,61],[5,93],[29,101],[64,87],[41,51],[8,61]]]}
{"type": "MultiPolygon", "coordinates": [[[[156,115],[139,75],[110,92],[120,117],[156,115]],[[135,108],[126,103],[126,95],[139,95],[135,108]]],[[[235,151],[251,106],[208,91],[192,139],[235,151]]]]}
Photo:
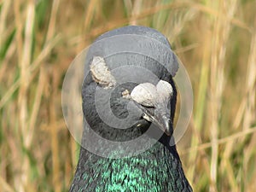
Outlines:
{"type": "Polygon", "coordinates": [[[145,132],[172,136],[178,64],[165,36],[144,26],[122,27],[97,38],[85,62],[83,113],[93,131],[113,141],[145,132]]]}

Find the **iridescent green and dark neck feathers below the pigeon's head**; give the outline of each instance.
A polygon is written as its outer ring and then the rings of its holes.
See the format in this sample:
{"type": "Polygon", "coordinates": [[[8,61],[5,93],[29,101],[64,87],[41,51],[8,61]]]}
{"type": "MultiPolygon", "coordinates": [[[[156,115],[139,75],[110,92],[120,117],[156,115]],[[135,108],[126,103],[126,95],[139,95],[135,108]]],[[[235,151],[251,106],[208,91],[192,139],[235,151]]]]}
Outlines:
{"type": "Polygon", "coordinates": [[[89,154],[79,162],[71,191],[192,191],[176,149],[161,143],[137,156],[108,159],[89,154]]]}

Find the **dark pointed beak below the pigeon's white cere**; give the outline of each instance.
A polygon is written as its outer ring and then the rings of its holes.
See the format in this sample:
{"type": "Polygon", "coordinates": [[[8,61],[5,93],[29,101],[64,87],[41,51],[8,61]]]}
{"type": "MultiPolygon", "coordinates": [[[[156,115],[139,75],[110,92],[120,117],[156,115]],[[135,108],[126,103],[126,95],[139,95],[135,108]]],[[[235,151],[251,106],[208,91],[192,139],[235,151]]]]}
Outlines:
{"type": "Polygon", "coordinates": [[[152,112],[140,104],[137,104],[137,107],[143,111],[143,119],[157,125],[161,131],[166,133],[167,136],[172,135],[172,119],[170,109],[166,108],[166,106],[157,105],[156,108],[154,108],[154,112],[152,112]]]}

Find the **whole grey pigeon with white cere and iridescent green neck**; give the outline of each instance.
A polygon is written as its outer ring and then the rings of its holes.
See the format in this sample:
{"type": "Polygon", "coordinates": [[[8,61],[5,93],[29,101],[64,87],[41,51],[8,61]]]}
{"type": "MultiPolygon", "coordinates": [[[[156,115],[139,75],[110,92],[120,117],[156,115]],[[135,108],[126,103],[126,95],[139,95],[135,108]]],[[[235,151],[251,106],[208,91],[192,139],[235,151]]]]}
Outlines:
{"type": "Polygon", "coordinates": [[[146,26],[106,32],[84,61],[84,129],[70,192],[193,191],[172,144],[177,56],[146,26]]]}

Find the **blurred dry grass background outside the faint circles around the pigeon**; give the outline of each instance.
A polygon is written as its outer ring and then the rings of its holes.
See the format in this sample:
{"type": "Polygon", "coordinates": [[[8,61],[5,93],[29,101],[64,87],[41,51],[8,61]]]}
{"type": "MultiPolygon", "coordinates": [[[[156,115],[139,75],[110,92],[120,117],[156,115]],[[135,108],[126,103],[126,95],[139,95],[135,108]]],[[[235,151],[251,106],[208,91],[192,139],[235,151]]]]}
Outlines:
{"type": "Polygon", "coordinates": [[[177,148],[195,191],[256,189],[256,1],[0,1],[0,191],[67,191],[79,145],[61,110],[71,61],[126,25],[169,39],[194,91],[177,148]]]}

